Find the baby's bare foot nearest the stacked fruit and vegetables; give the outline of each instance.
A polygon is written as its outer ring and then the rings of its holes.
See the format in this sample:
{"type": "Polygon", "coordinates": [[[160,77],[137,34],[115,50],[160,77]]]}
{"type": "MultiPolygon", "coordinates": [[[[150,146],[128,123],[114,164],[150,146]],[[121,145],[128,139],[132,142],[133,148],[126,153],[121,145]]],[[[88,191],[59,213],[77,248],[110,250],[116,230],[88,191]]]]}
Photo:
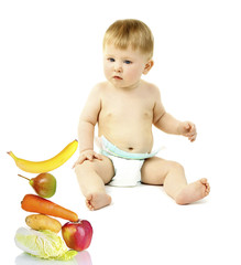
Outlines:
{"type": "Polygon", "coordinates": [[[86,205],[89,210],[98,210],[111,203],[111,197],[107,193],[95,192],[86,197],[86,205]]]}

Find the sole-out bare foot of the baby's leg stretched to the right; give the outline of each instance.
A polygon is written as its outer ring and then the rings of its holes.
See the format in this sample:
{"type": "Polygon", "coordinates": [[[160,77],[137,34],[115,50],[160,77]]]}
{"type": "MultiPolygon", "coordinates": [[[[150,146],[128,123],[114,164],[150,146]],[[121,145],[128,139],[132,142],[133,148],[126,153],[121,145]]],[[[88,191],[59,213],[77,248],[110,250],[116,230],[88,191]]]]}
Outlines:
{"type": "Polygon", "coordinates": [[[210,192],[210,186],[207,179],[200,179],[183,188],[176,197],[176,203],[188,204],[204,199],[210,192]]]}

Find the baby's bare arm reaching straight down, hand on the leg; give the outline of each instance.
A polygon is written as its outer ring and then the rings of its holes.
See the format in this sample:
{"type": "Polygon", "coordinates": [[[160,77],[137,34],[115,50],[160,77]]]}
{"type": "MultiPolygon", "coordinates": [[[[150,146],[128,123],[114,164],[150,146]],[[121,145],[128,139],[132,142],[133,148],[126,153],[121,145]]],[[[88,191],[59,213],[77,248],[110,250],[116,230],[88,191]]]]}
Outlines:
{"type": "Polygon", "coordinates": [[[74,167],[85,160],[100,159],[101,156],[94,151],[95,126],[100,112],[100,93],[98,85],[92,88],[87,103],[81,112],[78,125],[79,158],[74,167]]]}

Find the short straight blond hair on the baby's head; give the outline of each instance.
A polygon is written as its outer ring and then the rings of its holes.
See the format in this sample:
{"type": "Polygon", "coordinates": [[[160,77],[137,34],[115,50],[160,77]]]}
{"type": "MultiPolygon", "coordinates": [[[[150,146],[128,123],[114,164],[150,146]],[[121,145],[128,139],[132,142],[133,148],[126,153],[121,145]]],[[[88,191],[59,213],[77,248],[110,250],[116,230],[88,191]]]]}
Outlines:
{"type": "Polygon", "coordinates": [[[149,59],[153,56],[153,34],[150,28],[140,20],[117,20],[106,31],[103,49],[107,44],[113,44],[121,50],[125,50],[131,45],[133,50],[140,50],[149,59]]]}

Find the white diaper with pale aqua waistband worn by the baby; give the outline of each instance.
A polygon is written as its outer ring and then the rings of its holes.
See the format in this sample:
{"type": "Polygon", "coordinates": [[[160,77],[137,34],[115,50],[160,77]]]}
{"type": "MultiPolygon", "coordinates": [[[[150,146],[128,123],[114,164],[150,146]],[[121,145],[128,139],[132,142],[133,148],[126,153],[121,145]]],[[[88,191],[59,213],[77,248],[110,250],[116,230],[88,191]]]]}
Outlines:
{"type": "Polygon", "coordinates": [[[100,152],[111,159],[114,168],[114,177],[110,181],[110,186],[134,187],[141,182],[141,168],[146,158],[154,157],[158,150],[151,153],[132,153],[127,152],[103,136],[96,139],[100,152]]]}

